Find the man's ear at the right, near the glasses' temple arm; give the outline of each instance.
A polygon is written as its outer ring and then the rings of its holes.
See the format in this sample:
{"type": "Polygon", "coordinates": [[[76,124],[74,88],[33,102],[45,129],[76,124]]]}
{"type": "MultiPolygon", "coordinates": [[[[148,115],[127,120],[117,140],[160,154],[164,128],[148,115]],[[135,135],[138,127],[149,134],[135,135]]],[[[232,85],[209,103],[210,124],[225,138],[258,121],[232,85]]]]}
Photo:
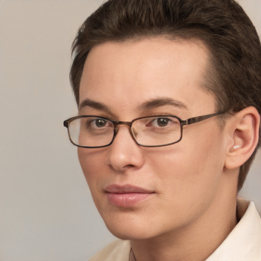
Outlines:
{"type": "Polygon", "coordinates": [[[254,107],[247,107],[234,114],[227,123],[229,142],[225,167],[234,169],[242,166],[256,148],[260,115],[254,107]]]}

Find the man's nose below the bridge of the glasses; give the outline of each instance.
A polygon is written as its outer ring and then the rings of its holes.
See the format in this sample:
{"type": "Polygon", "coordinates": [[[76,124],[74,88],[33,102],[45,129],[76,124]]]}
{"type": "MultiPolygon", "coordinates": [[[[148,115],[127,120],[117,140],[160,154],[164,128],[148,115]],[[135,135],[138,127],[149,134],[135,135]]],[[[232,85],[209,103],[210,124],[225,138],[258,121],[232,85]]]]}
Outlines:
{"type": "Polygon", "coordinates": [[[118,133],[109,148],[109,165],[116,171],[135,170],[144,164],[144,148],[134,141],[127,125],[118,126],[118,133]]]}

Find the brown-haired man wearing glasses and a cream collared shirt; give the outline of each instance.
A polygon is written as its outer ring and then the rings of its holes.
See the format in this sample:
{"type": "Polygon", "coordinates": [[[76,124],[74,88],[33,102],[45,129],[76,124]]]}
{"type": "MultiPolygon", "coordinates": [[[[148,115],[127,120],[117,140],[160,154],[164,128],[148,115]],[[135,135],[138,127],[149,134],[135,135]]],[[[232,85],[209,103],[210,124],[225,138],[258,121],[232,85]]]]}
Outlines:
{"type": "Polygon", "coordinates": [[[90,260],[257,261],[237,199],[260,144],[261,46],[233,0],[109,0],[83,23],[64,121],[119,240],[90,260]]]}

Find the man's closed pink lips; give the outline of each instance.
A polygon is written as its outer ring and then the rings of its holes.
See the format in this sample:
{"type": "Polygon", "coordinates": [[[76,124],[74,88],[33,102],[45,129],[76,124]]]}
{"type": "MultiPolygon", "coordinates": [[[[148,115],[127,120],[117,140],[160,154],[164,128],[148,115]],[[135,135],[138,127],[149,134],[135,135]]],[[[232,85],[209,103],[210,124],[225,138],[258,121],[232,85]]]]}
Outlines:
{"type": "Polygon", "coordinates": [[[136,186],[119,186],[116,184],[106,187],[105,192],[107,193],[109,202],[119,207],[134,206],[154,194],[153,191],[148,191],[136,186]]]}

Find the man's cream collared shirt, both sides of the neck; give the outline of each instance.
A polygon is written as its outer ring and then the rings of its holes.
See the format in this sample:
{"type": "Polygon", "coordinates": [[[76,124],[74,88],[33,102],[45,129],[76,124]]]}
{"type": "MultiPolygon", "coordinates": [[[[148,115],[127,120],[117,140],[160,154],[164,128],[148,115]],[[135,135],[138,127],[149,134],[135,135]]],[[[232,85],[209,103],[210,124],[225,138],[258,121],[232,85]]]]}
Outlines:
{"type": "MultiPolygon", "coordinates": [[[[254,203],[238,200],[237,215],[239,223],[205,261],[261,261],[261,219],[254,203]]],[[[89,261],[132,261],[130,252],[129,241],[116,240],[89,261]]]]}

